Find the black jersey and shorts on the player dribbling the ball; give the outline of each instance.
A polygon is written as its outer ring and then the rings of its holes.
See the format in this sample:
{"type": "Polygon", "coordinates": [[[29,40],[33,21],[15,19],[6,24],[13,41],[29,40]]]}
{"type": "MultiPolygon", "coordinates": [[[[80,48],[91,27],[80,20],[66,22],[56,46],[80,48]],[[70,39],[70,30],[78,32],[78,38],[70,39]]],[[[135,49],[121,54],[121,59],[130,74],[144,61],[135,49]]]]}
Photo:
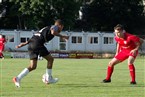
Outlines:
{"type": "Polygon", "coordinates": [[[49,42],[54,38],[54,35],[51,34],[51,29],[56,32],[59,31],[59,28],[56,25],[51,26],[51,28],[44,27],[35,33],[28,41],[28,52],[30,59],[37,59],[38,55],[46,56],[49,54],[47,48],[44,46],[44,43],[49,42]]]}

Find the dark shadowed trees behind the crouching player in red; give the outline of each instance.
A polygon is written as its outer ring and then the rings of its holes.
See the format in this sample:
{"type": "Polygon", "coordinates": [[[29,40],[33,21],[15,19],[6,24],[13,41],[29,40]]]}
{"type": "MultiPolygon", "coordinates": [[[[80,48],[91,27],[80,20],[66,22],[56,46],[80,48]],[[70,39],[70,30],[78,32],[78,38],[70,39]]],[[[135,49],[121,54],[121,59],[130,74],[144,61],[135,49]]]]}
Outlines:
{"type": "Polygon", "coordinates": [[[94,0],[86,10],[88,27],[111,30],[118,23],[133,31],[143,23],[142,0],[94,0]]]}

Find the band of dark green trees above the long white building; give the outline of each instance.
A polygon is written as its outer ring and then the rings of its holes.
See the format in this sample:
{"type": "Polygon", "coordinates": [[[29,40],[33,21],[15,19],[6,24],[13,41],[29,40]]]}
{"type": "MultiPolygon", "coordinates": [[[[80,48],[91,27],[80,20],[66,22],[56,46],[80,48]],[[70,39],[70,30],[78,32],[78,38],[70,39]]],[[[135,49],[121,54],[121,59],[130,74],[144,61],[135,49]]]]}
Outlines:
{"type": "Polygon", "coordinates": [[[142,0],[86,1],[89,0],[10,0],[3,4],[7,13],[0,18],[0,28],[40,29],[59,18],[64,21],[64,30],[112,31],[121,23],[130,33],[145,32],[142,0]],[[78,20],[80,7],[83,18],[78,20]]]}

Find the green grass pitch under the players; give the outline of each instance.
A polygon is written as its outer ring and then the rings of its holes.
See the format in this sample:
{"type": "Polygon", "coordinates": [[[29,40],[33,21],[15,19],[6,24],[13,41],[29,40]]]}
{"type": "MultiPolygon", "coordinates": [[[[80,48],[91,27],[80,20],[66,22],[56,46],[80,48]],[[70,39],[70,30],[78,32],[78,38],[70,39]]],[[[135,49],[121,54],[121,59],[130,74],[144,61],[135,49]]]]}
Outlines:
{"type": "Polygon", "coordinates": [[[106,76],[110,59],[55,59],[53,76],[57,84],[46,85],[42,75],[46,61],[38,62],[37,69],[16,88],[12,78],[29,64],[29,59],[0,60],[0,97],[145,97],[145,58],[137,58],[137,85],[130,85],[127,61],[115,67],[112,82],[101,83],[106,76]]]}

